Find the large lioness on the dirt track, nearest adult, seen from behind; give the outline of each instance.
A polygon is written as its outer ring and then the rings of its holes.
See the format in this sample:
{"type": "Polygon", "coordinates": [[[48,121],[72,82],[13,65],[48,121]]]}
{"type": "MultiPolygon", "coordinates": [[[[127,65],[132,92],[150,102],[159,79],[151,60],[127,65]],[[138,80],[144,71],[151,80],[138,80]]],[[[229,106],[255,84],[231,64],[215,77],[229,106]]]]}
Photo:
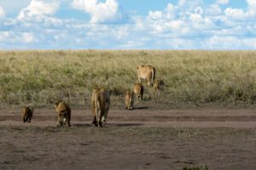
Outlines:
{"type": "Polygon", "coordinates": [[[102,122],[107,124],[110,95],[105,88],[95,88],[91,95],[91,110],[94,116],[92,124],[102,127],[102,122]]]}

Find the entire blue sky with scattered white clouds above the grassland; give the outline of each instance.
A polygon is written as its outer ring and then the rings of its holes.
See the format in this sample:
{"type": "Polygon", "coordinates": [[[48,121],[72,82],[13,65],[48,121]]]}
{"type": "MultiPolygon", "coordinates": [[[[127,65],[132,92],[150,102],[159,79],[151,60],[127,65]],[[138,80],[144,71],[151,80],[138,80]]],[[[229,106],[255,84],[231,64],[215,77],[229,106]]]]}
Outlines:
{"type": "Polygon", "coordinates": [[[256,0],[0,0],[0,49],[256,49],[256,0]]]}

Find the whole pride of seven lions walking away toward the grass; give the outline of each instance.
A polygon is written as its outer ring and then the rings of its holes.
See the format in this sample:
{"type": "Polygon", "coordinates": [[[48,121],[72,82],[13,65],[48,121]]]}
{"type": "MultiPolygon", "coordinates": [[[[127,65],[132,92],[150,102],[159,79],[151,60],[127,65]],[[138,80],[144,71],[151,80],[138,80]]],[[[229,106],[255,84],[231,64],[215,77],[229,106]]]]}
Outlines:
{"type": "MultiPolygon", "coordinates": [[[[134,95],[138,100],[143,100],[144,88],[142,80],[146,80],[148,87],[154,87],[155,90],[162,90],[165,83],[163,80],[155,79],[155,68],[151,65],[138,65],[137,66],[137,79],[138,82],[125,92],[125,109],[134,109],[134,95]]],[[[96,127],[102,127],[107,124],[108,110],[110,106],[110,93],[106,88],[94,88],[91,94],[91,111],[93,122],[96,127]]],[[[34,108],[25,107],[22,109],[23,122],[31,122],[34,108]]],[[[55,102],[55,111],[57,113],[56,127],[71,127],[71,108],[64,101],[55,102]]]]}

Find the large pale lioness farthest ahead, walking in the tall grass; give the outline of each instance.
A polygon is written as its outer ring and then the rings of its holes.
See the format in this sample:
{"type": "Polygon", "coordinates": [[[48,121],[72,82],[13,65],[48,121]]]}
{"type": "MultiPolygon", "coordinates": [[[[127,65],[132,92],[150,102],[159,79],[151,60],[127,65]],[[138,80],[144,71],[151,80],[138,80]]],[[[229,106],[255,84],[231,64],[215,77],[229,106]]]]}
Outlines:
{"type": "Polygon", "coordinates": [[[138,65],[137,66],[137,78],[140,83],[142,79],[146,79],[148,86],[153,86],[153,81],[155,77],[155,68],[151,65],[138,65]]]}

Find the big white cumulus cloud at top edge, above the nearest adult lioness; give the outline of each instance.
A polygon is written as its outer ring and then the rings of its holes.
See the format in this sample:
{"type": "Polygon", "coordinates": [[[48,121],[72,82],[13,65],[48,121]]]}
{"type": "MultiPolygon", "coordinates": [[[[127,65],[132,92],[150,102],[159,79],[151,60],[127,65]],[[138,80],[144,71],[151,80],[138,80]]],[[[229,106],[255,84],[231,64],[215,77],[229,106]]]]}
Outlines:
{"type": "Polygon", "coordinates": [[[105,3],[98,0],[73,0],[72,6],[90,14],[91,23],[123,23],[129,20],[117,0],[106,0],[105,3]]]}

